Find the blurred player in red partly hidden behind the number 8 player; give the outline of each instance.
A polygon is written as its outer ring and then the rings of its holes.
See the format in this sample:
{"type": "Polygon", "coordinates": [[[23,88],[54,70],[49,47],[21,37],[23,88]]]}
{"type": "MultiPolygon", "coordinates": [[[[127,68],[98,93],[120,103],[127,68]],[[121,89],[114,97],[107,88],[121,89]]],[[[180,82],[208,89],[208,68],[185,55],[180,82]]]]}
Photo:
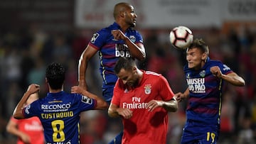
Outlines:
{"type": "MultiPolygon", "coordinates": [[[[31,94],[26,101],[26,105],[31,104],[36,99],[38,99],[38,94],[31,94]]],[[[36,116],[22,120],[18,120],[12,116],[6,126],[6,131],[18,137],[17,144],[45,143],[43,126],[40,119],[36,116]]]]}

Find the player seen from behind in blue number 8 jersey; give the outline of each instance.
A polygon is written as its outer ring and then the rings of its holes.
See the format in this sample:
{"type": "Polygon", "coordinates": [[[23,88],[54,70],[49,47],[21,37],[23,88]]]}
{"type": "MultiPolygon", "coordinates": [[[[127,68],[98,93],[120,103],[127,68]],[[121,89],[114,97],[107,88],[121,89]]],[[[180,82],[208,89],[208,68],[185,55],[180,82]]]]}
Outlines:
{"type": "Polygon", "coordinates": [[[80,143],[80,113],[92,109],[107,109],[106,101],[82,87],[73,86],[73,94],[64,92],[64,80],[63,66],[52,63],[46,69],[49,88],[47,96],[24,106],[28,97],[40,89],[38,84],[31,84],[14,110],[14,118],[37,116],[40,119],[47,144],[80,143]]]}

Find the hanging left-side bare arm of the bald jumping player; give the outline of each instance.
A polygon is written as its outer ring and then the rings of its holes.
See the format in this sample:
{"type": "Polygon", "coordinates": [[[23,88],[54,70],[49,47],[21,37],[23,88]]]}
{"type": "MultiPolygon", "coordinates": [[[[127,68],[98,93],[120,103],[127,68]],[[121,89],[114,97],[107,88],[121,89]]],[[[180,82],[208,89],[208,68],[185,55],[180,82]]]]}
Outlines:
{"type": "Polygon", "coordinates": [[[85,80],[85,75],[86,75],[86,70],[87,70],[87,65],[89,60],[97,50],[95,48],[92,48],[92,46],[87,45],[87,48],[82,52],[82,55],[80,56],[79,59],[79,64],[78,64],[78,83],[80,87],[83,87],[87,89],[87,83],[85,80]]]}

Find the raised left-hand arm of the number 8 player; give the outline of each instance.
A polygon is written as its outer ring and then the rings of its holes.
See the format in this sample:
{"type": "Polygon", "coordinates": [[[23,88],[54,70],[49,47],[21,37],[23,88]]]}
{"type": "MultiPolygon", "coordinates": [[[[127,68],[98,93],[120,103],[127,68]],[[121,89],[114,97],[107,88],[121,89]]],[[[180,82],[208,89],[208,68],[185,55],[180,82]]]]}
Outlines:
{"type": "Polygon", "coordinates": [[[29,85],[27,91],[23,94],[21,100],[18,102],[16,108],[14,109],[14,118],[21,119],[24,118],[23,116],[23,108],[26,104],[26,101],[31,94],[35,94],[36,92],[39,92],[40,86],[38,84],[31,84],[29,85]]]}

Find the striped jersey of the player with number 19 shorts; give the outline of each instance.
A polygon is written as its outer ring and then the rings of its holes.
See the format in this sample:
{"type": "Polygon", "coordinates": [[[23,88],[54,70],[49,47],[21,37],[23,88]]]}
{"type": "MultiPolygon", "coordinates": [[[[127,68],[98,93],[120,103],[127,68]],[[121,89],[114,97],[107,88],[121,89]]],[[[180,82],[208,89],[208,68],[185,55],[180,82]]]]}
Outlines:
{"type": "Polygon", "coordinates": [[[188,120],[206,124],[220,124],[221,94],[223,80],[213,76],[210,67],[218,66],[223,74],[233,72],[230,67],[208,58],[201,70],[184,67],[189,89],[186,116],[188,120]]]}

